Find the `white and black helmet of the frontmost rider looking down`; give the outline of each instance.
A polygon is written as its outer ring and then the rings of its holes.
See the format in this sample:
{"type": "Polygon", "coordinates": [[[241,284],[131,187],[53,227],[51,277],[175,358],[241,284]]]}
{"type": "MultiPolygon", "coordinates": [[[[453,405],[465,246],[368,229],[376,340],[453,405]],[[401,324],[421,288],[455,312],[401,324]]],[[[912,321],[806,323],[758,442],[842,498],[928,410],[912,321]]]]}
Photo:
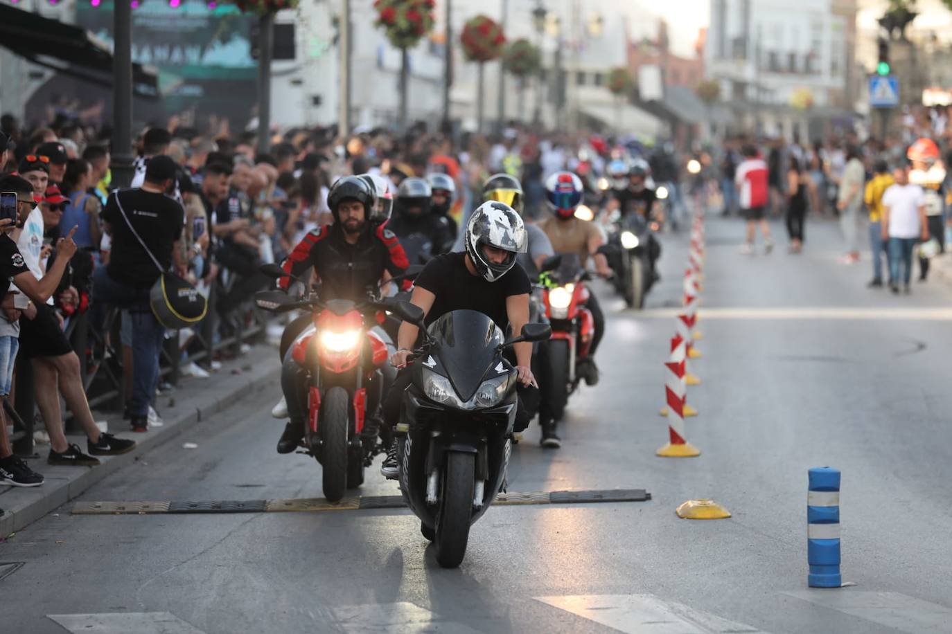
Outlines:
{"type": "Polygon", "coordinates": [[[466,253],[477,273],[486,281],[496,281],[516,263],[517,254],[526,253],[526,223],[505,202],[484,202],[469,217],[465,241],[466,253]],[[509,255],[499,264],[489,261],[483,253],[484,244],[507,251],[509,255]]]}

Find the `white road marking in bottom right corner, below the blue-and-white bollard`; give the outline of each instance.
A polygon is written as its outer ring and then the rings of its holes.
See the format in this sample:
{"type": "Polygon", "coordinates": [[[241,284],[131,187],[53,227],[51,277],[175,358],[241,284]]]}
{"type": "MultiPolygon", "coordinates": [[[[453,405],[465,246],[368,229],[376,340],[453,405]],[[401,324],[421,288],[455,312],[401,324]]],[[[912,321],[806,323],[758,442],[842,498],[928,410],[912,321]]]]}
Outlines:
{"type": "Polygon", "coordinates": [[[952,607],[914,599],[899,592],[841,589],[798,590],[784,594],[910,634],[948,632],[949,624],[952,624],[952,607]]]}

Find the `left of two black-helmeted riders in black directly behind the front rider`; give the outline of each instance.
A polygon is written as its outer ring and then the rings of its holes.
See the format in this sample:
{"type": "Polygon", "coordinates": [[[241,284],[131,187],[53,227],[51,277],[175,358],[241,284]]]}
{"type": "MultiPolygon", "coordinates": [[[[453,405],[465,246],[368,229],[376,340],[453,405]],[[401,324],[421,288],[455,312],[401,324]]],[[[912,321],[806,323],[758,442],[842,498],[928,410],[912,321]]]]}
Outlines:
{"type": "Polygon", "coordinates": [[[430,213],[433,190],[424,179],[404,179],[397,188],[396,212],[387,223],[388,228],[403,245],[408,261],[420,263],[446,253],[452,247],[451,229],[446,216],[430,213]]]}

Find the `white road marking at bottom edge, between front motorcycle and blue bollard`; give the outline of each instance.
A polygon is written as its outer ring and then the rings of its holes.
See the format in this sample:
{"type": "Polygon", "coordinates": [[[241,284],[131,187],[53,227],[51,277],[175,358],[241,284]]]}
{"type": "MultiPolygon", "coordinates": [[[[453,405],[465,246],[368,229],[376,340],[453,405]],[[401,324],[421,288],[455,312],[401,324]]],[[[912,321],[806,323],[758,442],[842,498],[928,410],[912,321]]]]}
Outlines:
{"type": "Polygon", "coordinates": [[[590,594],[535,599],[625,634],[764,634],[756,627],[727,621],[674,601],[662,601],[650,594],[590,594]]]}

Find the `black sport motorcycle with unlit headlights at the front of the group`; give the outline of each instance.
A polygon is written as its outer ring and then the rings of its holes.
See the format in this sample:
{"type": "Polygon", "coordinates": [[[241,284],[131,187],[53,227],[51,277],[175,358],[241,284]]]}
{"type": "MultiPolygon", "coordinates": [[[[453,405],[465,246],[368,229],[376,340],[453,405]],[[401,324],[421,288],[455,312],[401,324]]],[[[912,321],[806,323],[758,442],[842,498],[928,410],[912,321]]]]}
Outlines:
{"type": "Polygon", "coordinates": [[[476,311],[446,313],[426,329],[418,306],[400,302],[393,310],[423,334],[410,356],[412,381],[396,428],[400,489],[440,566],[457,567],[470,525],[506,481],[518,397],[516,371],[503,352],[520,341],[545,340],[551,328],[528,323],[505,340],[476,311]]]}

